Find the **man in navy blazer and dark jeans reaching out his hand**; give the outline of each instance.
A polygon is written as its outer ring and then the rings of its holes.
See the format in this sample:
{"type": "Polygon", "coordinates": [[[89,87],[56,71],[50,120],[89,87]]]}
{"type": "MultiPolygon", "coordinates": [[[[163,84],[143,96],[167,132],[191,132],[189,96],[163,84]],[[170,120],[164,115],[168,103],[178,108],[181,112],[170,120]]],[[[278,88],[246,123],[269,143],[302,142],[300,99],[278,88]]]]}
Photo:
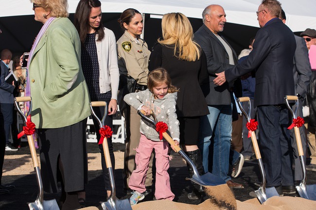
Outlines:
{"type": "Polygon", "coordinates": [[[257,11],[261,29],[257,32],[249,57],[235,67],[216,74],[215,85],[233,81],[255,71],[259,139],[267,178],[267,187],[279,194],[294,185],[289,112],[284,96],[295,94],[293,57],[296,43],[293,32],[279,19],[281,3],[263,0],[257,11]]]}

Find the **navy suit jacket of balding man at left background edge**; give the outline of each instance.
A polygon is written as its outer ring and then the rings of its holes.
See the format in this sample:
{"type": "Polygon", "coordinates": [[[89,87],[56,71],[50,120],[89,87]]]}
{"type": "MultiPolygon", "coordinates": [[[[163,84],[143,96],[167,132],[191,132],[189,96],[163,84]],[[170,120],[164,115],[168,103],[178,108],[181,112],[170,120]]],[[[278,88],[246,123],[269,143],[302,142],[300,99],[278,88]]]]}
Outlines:
{"type": "Polygon", "coordinates": [[[1,67],[1,82],[0,82],[0,103],[11,103],[13,104],[13,91],[14,86],[5,81],[5,77],[9,74],[9,69],[0,60],[1,67]]]}

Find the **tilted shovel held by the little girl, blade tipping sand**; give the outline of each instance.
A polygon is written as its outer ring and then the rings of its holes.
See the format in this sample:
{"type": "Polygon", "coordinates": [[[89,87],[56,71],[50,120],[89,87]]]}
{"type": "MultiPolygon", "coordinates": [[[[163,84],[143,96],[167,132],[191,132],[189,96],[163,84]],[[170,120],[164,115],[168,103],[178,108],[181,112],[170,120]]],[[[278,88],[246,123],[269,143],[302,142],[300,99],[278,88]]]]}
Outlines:
{"type": "MultiPolygon", "coordinates": [[[[149,117],[145,116],[143,114],[143,111],[138,111],[138,114],[144,118],[146,121],[152,123],[154,126],[156,126],[156,122],[152,119],[150,119],[149,117]]],[[[193,164],[192,160],[183,152],[183,150],[178,146],[175,145],[174,140],[169,136],[168,133],[163,132],[162,133],[163,138],[165,138],[165,140],[167,140],[167,142],[170,145],[174,145],[176,152],[186,161],[190,164],[190,166],[193,169],[193,176],[192,178],[186,178],[187,180],[191,180],[193,182],[195,182],[196,184],[202,185],[202,186],[217,186],[217,185],[221,185],[221,184],[226,184],[226,182],[222,179],[219,178],[213,174],[211,174],[210,172],[207,172],[204,175],[199,175],[197,172],[197,169],[195,167],[195,165],[193,164]]]]}

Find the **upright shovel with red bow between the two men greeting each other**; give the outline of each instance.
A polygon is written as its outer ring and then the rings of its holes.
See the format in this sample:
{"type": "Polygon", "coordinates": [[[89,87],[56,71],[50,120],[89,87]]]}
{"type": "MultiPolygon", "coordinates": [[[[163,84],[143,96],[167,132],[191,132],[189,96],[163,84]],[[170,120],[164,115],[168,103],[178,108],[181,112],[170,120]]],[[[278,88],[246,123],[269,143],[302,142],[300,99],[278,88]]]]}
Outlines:
{"type": "MultiPolygon", "coordinates": [[[[250,111],[251,111],[250,98],[249,97],[240,97],[240,98],[237,98],[236,101],[238,103],[240,110],[245,115],[247,122],[250,123],[250,111]],[[240,102],[248,102],[248,113],[246,113],[246,111],[243,109],[240,102]]],[[[261,177],[262,177],[260,187],[258,190],[255,191],[255,193],[256,193],[257,198],[260,201],[260,203],[263,204],[263,202],[265,202],[268,198],[270,198],[272,196],[279,196],[279,194],[278,194],[277,190],[275,189],[275,187],[268,187],[268,188],[265,187],[265,185],[266,185],[265,171],[264,171],[263,162],[261,159],[261,154],[260,154],[260,150],[259,150],[255,131],[251,131],[251,142],[252,142],[253,148],[255,150],[256,159],[258,161],[260,173],[261,173],[261,177]]]]}

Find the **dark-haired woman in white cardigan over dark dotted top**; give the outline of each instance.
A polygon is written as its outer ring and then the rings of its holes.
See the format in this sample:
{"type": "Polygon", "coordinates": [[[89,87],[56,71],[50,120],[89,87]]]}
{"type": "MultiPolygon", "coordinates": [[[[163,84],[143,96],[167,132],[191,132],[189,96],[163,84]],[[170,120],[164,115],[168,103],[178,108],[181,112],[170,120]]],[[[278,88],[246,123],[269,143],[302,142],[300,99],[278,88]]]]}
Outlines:
{"type": "MultiPolygon", "coordinates": [[[[81,40],[81,65],[88,85],[91,101],[106,101],[108,116],[105,125],[112,128],[112,116],[117,111],[117,94],[119,87],[119,68],[114,33],[102,26],[101,2],[99,0],[80,0],[74,14],[74,25],[81,40]]],[[[101,119],[104,108],[94,107],[94,112],[101,119]]],[[[93,119],[94,127],[99,130],[99,124],[93,119]]],[[[98,140],[100,134],[97,131],[98,140]]],[[[111,162],[114,170],[115,158],[112,139],[107,138],[111,162]]],[[[105,190],[110,195],[110,183],[103,155],[103,147],[99,145],[102,169],[105,180],[105,190]]],[[[84,193],[79,195],[79,201],[84,206],[84,193]],[[82,196],[81,196],[82,195],[82,196]]]]}

